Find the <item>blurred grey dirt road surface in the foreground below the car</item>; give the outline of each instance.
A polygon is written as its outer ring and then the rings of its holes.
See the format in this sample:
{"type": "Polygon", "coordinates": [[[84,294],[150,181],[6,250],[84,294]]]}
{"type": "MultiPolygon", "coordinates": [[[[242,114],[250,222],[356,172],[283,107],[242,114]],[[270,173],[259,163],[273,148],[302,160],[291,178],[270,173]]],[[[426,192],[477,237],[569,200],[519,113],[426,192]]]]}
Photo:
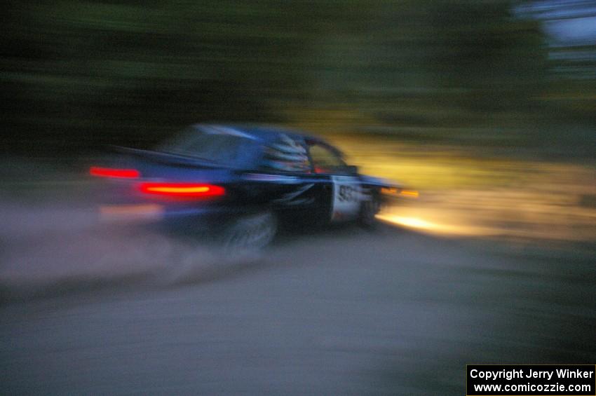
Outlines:
{"type": "Polygon", "coordinates": [[[466,364],[596,360],[591,252],[348,227],[196,266],[130,240],[5,241],[1,393],[463,395],[466,364]]]}

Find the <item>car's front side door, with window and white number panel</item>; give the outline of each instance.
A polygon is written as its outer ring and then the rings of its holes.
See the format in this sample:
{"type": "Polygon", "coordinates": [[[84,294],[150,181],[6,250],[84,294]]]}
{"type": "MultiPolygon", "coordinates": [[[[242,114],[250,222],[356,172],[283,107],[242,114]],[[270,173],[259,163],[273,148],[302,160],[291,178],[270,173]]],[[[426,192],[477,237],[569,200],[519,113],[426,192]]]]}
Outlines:
{"type": "Polygon", "coordinates": [[[323,142],[309,142],[313,174],[326,184],[325,206],[329,221],[355,219],[360,213],[362,185],[341,158],[339,151],[323,142]]]}

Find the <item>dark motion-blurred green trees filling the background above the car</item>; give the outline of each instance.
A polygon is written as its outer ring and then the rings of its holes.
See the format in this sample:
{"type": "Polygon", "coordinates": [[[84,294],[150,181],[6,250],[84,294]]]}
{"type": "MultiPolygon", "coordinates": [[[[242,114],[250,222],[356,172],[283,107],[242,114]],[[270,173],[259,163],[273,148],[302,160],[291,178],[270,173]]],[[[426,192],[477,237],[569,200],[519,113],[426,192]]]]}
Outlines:
{"type": "Polygon", "coordinates": [[[12,1],[9,149],[150,144],[197,121],[470,125],[535,104],[539,22],[508,1],[12,1]],[[321,113],[321,114],[324,114],[321,113]]]}

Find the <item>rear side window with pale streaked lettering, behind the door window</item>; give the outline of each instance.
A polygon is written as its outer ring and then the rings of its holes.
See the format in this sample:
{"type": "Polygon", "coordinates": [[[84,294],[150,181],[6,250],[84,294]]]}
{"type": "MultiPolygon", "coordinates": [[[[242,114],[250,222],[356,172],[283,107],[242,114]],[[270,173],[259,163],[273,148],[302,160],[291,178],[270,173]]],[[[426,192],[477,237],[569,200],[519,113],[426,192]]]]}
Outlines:
{"type": "Polygon", "coordinates": [[[262,168],[278,172],[310,172],[304,141],[280,135],[264,147],[262,168]]]}

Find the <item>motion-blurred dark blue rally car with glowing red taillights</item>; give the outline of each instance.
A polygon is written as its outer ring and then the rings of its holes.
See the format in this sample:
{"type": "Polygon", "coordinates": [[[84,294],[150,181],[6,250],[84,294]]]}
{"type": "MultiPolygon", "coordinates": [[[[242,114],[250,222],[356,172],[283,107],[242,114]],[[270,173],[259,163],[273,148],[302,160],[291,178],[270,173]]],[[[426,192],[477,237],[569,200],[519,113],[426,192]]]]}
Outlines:
{"type": "Polygon", "coordinates": [[[383,192],[317,137],[261,125],[197,124],[154,151],[118,148],[90,168],[103,219],[203,231],[227,247],[269,244],[282,224],[372,226],[383,192]]]}

